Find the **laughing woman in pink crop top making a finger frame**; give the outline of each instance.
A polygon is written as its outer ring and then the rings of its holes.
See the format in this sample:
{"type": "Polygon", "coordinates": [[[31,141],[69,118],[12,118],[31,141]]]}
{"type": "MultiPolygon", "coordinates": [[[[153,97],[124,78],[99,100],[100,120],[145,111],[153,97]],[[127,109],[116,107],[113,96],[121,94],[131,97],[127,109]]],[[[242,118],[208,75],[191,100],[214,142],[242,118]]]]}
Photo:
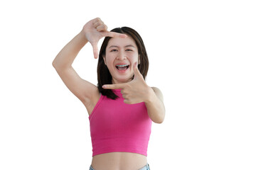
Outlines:
{"type": "Polygon", "coordinates": [[[151,122],[162,123],[165,109],[161,91],[147,86],[144,80],[148,66],[139,34],[127,27],[109,32],[100,18],[87,22],[53,60],[60,78],[89,114],[90,169],[149,169],[146,150],[151,122]],[[97,58],[97,42],[103,37],[95,86],[81,79],[72,63],[87,42],[97,58]]]}

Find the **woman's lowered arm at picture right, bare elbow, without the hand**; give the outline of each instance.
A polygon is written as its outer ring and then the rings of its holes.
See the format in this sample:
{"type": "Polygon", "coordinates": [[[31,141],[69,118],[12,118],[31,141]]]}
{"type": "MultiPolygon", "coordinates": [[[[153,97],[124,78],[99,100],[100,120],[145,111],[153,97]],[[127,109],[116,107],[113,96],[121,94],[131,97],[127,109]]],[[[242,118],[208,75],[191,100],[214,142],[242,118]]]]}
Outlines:
{"type": "Polygon", "coordinates": [[[156,87],[149,87],[147,100],[144,101],[149,118],[154,123],[163,123],[165,117],[164,97],[156,87]]]}

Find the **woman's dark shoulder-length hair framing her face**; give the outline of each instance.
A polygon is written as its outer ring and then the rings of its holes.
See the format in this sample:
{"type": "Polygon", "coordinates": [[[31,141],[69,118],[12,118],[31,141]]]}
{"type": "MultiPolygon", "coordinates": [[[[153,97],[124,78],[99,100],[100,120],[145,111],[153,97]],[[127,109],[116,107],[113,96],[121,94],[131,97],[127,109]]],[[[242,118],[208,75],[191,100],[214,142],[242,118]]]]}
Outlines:
{"type": "MultiPolygon", "coordinates": [[[[112,32],[115,33],[123,33],[134,39],[136,42],[137,48],[138,48],[138,53],[140,57],[140,64],[138,64],[138,69],[139,72],[142,74],[144,79],[146,78],[146,74],[149,69],[149,59],[146,54],[146,48],[144,46],[144,42],[137,33],[136,30],[129,28],[129,27],[122,27],[122,28],[114,28],[111,30],[112,32]]],[[[100,93],[104,96],[107,96],[107,98],[112,98],[116,99],[118,98],[117,95],[114,94],[114,92],[111,89],[103,89],[102,86],[104,84],[112,84],[112,76],[110,74],[109,69],[105,65],[103,56],[106,55],[106,47],[108,42],[110,41],[111,37],[105,37],[105,39],[102,42],[102,46],[100,48],[100,55],[99,55],[99,61],[97,64],[97,88],[99,89],[100,93]]]]}

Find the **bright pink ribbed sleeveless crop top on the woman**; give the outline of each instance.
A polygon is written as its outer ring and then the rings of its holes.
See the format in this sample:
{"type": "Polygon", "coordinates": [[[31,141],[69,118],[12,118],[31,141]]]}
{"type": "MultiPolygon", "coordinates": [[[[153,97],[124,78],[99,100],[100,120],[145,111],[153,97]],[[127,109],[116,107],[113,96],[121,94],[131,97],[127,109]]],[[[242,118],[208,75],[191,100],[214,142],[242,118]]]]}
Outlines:
{"type": "Polygon", "coordinates": [[[116,100],[100,96],[89,116],[92,157],[108,152],[132,152],[147,156],[152,121],[145,103],[126,104],[121,90],[116,100]]]}

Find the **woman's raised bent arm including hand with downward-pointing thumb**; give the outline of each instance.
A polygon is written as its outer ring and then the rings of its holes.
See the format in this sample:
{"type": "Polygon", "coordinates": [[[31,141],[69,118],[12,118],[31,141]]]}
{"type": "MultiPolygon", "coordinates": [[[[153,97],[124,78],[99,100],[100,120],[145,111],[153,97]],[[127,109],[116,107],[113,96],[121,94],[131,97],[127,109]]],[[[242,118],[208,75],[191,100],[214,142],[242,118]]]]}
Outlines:
{"type": "Polygon", "coordinates": [[[78,52],[80,52],[87,42],[92,44],[94,56],[97,58],[97,42],[105,36],[126,37],[126,35],[107,31],[107,26],[100,18],[95,18],[87,22],[80,33],[68,42],[53,60],[53,67],[58,72],[64,84],[82,101],[89,114],[100,98],[100,92],[97,86],[81,79],[77,72],[75,72],[75,69],[73,69],[72,64],[78,52]]]}

